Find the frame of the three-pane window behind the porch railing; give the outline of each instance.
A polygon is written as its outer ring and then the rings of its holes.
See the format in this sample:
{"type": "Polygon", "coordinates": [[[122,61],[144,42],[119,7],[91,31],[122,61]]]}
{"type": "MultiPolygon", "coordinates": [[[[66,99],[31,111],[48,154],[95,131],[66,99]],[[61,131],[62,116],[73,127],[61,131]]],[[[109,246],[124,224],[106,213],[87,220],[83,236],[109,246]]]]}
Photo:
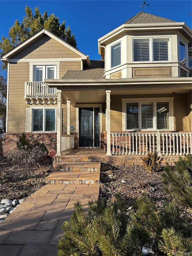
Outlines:
{"type": "Polygon", "coordinates": [[[174,131],[173,99],[171,98],[122,98],[122,130],[123,131],[174,131]],[[127,103],[139,102],[139,128],[127,129],[127,103]],[[141,127],[141,104],[153,102],[153,129],[142,129],[141,127]],[[169,102],[169,129],[157,128],[157,102],[169,102]]]}

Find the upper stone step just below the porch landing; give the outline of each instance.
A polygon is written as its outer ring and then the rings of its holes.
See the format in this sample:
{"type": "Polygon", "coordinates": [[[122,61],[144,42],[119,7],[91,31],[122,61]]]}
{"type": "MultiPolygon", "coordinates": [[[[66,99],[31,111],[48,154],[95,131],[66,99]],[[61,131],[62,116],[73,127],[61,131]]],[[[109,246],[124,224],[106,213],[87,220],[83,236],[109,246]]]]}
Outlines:
{"type": "Polygon", "coordinates": [[[98,172],[100,168],[101,162],[60,162],[55,171],[98,172]]]}

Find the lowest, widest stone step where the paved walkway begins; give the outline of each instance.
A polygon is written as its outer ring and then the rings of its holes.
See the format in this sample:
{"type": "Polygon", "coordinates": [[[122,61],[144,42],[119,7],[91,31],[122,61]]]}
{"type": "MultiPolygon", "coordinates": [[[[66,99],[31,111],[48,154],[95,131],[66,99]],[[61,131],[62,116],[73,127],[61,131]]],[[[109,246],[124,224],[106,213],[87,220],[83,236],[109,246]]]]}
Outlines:
{"type": "Polygon", "coordinates": [[[55,171],[46,177],[47,184],[99,184],[100,172],[55,171]]]}

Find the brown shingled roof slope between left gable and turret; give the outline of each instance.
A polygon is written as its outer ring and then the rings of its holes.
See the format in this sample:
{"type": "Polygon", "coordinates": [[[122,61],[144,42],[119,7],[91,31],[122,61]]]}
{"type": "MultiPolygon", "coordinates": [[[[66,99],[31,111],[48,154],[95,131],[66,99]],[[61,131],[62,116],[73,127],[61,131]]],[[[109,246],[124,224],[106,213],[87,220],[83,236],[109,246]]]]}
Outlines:
{"type": "Polygon", "coordinates": [[[104,79],[104,60],[90,60],[83,70],[67,70],[62,79],[104,79]]]}

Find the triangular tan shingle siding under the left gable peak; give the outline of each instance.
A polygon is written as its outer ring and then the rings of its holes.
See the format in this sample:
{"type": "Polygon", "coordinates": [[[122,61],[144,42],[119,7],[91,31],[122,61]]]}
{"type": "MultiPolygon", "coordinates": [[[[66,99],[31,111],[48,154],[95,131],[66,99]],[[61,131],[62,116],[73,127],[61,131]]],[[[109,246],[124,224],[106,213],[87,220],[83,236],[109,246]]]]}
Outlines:
{"type": "Polygon", "coordinates": [[[58,43],[47,35],[29,45],[12,59],[48,59],[48,58],[79,58],[72,50],[58,43]]]}

